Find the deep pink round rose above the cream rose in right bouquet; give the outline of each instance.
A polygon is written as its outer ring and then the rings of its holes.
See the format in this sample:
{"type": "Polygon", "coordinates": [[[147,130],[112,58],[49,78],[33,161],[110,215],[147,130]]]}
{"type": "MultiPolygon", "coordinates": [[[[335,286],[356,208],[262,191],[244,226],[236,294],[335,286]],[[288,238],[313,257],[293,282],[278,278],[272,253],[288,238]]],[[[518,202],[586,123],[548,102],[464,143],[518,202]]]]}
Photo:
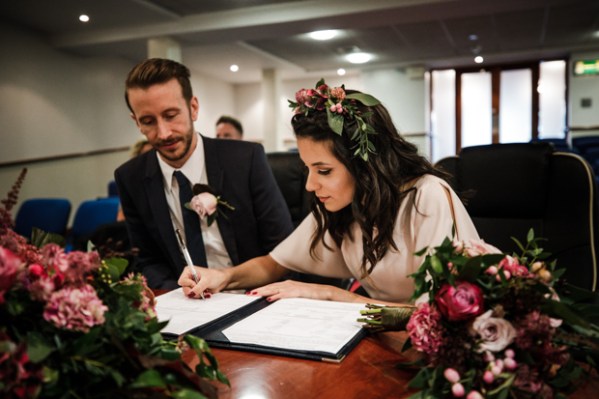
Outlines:
{"type": "Polygon", "coordinates": [[[455,287],[443,285],[435,302],[449,321],[467,320],[483,312],[482,290],[467,281],[458,282],[455,287]]]}

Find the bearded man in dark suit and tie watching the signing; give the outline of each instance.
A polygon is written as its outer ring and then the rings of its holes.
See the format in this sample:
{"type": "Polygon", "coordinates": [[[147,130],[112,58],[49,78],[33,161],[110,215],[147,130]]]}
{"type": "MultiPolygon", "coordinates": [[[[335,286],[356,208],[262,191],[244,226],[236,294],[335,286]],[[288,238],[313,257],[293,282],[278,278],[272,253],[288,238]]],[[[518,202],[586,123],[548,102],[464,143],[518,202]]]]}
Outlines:
{"type": "Polygon", "coordinates": [[[151,288],[178,287],[187,265],[182,242],[195,265],[228,267],[267,254],[291,233],[291,216],[264,148],[194,131],[199,103],[187,67],[158,58],[141,62],[127,76],[125,100],[154,148],[115,171],[131,246],[139,249],[137,270],[151,288]],[[198,184],[234,210],[223,209],[213,223],[200,220],[181,203],[190,202],[198,184]],[[189,196],[180,198],[186,191],[189,196]],[[197,227],[185,228],[191,223],[197,227]]]}

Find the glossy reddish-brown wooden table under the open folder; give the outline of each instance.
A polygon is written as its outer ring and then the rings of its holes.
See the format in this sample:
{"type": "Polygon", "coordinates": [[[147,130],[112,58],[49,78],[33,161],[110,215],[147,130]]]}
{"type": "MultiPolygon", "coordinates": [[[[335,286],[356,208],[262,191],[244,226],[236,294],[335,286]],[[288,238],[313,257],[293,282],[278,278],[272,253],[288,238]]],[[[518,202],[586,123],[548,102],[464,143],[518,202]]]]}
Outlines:
{"type": "MultiPolygon", "coordinates": [[[[410,352],[401,352],[404,340],[405,332],[369,336],[338,364],[213,348],[231,382],[230,388],[216,383],[219,399],[408,398],[414,393],[407,387],[414,372],[395,367],[410,360],[410,352]]],[[[192,367],[194,356],[184,356],[192,367]]],[[[597,392],[595,376],[570,397],[590,399],[597,392]]]]}

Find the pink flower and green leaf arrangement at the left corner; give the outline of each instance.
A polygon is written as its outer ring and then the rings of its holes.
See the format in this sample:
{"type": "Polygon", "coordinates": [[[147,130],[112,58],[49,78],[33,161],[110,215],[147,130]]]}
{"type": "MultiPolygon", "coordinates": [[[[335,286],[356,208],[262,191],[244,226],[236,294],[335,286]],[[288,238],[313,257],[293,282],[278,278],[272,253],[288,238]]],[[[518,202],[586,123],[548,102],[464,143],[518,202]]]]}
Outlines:
{"type": "Polygon", "coordinates": [[[210,348],[160,334],[154,296],[127,262],[65,253],[49,234],[15,233],[10,211],[26,169],[0,207],[0,396],[214,398],[228,384],[210,348]],[[192,370],[182,360],[194,351],[192,370]]]}

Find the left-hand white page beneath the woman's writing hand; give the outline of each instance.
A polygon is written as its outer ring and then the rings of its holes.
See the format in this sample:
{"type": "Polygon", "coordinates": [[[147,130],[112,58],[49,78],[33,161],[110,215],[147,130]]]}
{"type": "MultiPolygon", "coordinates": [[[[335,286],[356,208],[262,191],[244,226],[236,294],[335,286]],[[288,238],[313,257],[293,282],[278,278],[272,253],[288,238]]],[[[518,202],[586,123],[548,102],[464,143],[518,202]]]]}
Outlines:
{"type": "Polygon", "coordinates": [[[169,321],[162,329],[163,333],[180,335],[258,299],[226,292],[212,294],[207,299],[193,299],[179,288],[156,297],[156,314],[159,321],[169,321]]]}

